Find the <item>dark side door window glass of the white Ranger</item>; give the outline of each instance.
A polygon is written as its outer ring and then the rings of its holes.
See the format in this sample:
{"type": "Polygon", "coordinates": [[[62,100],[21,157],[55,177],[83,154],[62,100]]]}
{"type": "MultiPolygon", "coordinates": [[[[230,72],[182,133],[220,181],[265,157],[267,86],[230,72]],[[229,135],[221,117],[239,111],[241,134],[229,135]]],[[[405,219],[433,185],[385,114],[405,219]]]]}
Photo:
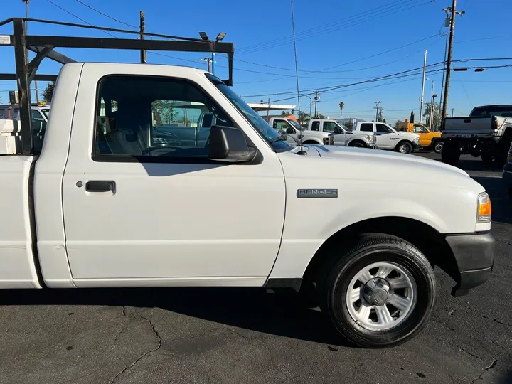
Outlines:
{"type": "Polygon", "coordinates": [[[97,95],[93,159],[208,160],[208,138],[215,124],[233,127],[225,113],[191,82],[108,76],[100,80],[97,95]]]}

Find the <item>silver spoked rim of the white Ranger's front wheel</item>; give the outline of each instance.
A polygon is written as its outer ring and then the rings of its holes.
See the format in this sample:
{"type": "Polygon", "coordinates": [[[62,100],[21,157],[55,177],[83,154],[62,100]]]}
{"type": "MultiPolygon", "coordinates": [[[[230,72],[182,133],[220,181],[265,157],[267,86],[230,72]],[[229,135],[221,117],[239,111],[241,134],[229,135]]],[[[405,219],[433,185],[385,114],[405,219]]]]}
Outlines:
{"type": "Polygon", "coordinates": [[[353,321],[369,331],[401,324],[412,313],[417,286],[412,274],[393,262],[374,262],[348,285],[346,306],[353,321]]]}

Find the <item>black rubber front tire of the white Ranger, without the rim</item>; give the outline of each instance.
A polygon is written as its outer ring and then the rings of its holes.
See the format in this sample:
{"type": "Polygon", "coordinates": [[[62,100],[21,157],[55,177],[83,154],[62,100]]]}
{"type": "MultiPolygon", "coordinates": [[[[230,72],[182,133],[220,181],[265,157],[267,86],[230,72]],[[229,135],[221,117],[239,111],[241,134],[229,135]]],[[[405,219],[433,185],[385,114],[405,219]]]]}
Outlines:
{"type": "MultiPolygon", "coordinates": [[[[356,346],[387,348],[414,337],[427,324],[437,294],[434,270],[425,255],[409,242],[391,235],[366,234],[334,262],[324,265],[317,284],[321,311],[339,333],[356,346]],[[415,282],[416,302],[398,325],[386,330],[370,330],[353,319],[348,310],[347,292],[353,277],[374,262],[388,262],[407,270],[415,282]]],[[[388,304],[385,304],[388,305],[388,304]]]]}

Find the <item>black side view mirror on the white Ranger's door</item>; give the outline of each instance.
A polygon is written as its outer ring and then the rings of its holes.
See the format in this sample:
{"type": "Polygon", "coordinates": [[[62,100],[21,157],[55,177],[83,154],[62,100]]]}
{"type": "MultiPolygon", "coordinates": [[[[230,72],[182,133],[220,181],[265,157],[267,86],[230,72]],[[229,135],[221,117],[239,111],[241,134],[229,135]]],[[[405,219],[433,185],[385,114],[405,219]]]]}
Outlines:
{"type": "Polygon", "coordinates": [[[214,125],[210,131],[208,159],[226,163],[245,163],[252,161],[257,149],[247,146],[244,133],[233,127],[214,125]]]}

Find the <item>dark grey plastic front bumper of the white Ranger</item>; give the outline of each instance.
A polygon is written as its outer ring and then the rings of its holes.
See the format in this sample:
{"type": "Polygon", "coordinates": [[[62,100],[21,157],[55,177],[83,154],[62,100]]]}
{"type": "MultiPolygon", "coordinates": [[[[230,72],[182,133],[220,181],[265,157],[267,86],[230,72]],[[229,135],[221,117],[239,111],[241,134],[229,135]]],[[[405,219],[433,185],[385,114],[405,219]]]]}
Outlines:
{"type": "Polygon", "coordinates": [[[491,276],[495,240],[489,232],[447,235],[446,240],[459,270],[452,296],[464,296],[469,289],[484,284],[491,276]]]}

